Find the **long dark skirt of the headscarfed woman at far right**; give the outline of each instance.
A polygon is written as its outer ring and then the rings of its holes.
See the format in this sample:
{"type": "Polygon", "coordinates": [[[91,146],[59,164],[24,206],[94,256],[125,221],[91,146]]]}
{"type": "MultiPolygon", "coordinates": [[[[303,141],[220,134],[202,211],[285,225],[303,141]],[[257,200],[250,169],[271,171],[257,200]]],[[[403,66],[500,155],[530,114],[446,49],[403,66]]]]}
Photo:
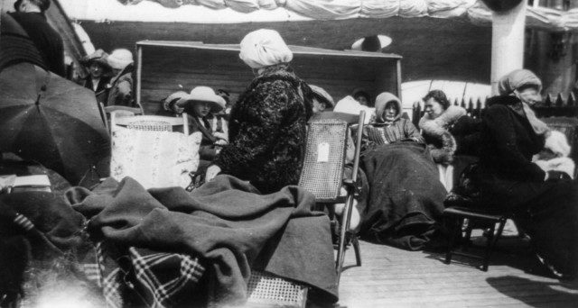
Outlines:
{"type": "Polygon", "coordinates": [[[515,221],[545,263],[565,276],[578,276],[578,182],[521,182],[480,172],[481,193],[489,204],[517,213],[515,221]]]}

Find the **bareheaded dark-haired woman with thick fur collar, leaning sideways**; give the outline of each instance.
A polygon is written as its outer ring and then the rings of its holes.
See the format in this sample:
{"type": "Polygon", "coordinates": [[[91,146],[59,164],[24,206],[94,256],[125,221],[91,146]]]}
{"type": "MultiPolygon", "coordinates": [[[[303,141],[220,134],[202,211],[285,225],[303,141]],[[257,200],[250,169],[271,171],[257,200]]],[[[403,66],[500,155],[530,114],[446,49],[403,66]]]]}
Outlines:
{"type": "Polygon", "coordinates": [[[425,114],[419,121],[419,128],[433,161],[438,164],[440,181],[451,190],[454,173],[459,174],[474,160],[461,157],[454,161],[456,155],[478,155],[480,121],[468,116],[461,106],[451,105],[443,91],[430,91],[423,100],[425,114]]]}

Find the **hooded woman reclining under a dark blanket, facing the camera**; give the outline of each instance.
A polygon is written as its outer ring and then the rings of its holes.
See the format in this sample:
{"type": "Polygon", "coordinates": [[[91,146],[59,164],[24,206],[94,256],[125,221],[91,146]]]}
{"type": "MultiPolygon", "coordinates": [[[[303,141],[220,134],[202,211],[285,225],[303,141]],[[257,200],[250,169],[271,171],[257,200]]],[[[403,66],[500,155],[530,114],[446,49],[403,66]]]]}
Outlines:
{"type": "Polygon", "coordinates": [[[362,141],[369,194],[361,236],[410,250],[432,244],[439,234],[445,190],[419,132],[401,118],[395,95],[378,95],[375,121],[364,129],[362,141]]]}

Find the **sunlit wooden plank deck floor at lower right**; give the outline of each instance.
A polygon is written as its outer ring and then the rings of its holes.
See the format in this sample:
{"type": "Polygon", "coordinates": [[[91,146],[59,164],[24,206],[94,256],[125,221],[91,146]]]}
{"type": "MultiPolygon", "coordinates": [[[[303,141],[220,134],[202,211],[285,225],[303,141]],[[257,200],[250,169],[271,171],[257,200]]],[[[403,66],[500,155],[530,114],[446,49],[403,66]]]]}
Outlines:
{"type": "MultiPolygon", "coordinates": [[[[480,240],[480,239],[478,239],[480,240]]],[[[361,241],[362,267],[352,249],[341,276],[340,305],[347,307],[578,307],[577,284],[548,277],[527,240],[500,240],[488,272],[478,260],[406,251],[361,241]]]]}

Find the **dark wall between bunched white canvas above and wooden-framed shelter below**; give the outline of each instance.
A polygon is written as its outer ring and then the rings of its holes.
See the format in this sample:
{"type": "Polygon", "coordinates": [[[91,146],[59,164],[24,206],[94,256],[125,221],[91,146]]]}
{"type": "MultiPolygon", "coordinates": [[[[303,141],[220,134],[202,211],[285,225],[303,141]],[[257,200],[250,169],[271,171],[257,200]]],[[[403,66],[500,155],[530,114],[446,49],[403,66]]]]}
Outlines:
{"type": "Polygon", "coordinates": [[[404,81],[422,79],[489,83],[491,27],[443,18],[359,18],[293,23],[137,23],[83,21],[96,48],[134,50],[142,40],[238,43],[247,32],[275,29],[287,44],[330,50],[350,48],[357,39],[385,34],[393,39],[387,52],[404,57],[404,81]]]}

